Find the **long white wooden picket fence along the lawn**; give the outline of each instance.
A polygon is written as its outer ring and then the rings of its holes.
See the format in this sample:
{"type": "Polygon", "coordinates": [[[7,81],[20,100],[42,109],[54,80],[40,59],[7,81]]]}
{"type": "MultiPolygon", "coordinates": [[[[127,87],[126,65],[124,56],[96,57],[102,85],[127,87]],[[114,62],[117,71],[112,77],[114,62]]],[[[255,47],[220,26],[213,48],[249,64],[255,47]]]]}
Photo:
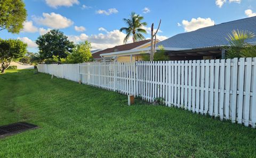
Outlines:
{"type": "Polygon", "coordinates": [[[38,71],[166,106],[256,123],[256,58],[38,65],[38,71]]]}

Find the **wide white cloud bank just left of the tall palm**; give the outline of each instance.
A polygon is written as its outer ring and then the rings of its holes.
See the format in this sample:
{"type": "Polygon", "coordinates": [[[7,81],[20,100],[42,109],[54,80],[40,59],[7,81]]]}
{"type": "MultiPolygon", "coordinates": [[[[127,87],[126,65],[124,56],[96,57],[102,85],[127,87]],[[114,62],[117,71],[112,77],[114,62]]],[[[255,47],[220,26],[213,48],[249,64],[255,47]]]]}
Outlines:
{"type": "MultiPolygon", "coordinates": [[[[123,45],[125,36],[126,34],[124,34],[123,32],[120,32],[119,30],[113,30],[109,32],[107,31],[104,34],[92,34],[91,36],[87,36],[87,34],[81,33],[79,36],[68,36],[68,39],[75,43],[88,40],[89,42],[91,42],[93,49],[106,49],[118,45],[123,45]]],[[[128,42],[131,41],[132,39],[129,39],[128,42]]]]}

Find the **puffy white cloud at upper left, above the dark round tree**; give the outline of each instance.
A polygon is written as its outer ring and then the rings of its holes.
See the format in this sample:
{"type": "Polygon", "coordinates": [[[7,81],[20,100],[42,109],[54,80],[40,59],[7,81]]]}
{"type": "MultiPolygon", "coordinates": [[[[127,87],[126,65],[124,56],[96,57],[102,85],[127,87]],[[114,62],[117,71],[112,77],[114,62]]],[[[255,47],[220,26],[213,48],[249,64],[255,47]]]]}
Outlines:
{"type": "Polygon", "coordinates": [[[70,27],[70,25],[73,25],[73,21],[70,19],[67,19],[67,17],[62,16],[60,14],[56,13],[43,13],[43,17],[39,16],[32,16],[33,20],[41,25],[45,25],[47,27],[53,28],[53,29],[63,29],[70,27]]]}

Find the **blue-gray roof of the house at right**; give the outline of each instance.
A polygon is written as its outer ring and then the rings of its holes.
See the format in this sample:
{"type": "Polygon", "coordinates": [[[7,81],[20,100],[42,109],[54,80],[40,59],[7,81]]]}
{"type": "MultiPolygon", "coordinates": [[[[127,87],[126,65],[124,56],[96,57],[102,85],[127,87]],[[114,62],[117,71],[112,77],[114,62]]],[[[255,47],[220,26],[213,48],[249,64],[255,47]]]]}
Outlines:
{"type": "MultiPolygon", "coordinates": [[[[251,31],[256,34],[256,16],[177,34],[157,43],[157,46],[193,49],[228,45],[227,34],[237,29],[251,31]]],[[[256,42],[256,38],[250,39],[247,42],[256,42]]]]}

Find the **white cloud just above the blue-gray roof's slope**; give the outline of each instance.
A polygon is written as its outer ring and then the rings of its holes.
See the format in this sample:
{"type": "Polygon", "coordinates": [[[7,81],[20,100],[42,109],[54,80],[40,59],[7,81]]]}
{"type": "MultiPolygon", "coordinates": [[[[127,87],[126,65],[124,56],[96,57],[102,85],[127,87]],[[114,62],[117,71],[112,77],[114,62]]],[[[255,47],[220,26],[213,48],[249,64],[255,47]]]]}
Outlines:
{"type": "Polygon", "coordinates": [[[185,28],[186,32],[190,32],[200,28],[212,26],[214,25],[214,21],[211,20],[210,17],[206,19],[198,17],[197,19],[191,19],[191,21],[183,20],[182,25],[185,28]]]}

